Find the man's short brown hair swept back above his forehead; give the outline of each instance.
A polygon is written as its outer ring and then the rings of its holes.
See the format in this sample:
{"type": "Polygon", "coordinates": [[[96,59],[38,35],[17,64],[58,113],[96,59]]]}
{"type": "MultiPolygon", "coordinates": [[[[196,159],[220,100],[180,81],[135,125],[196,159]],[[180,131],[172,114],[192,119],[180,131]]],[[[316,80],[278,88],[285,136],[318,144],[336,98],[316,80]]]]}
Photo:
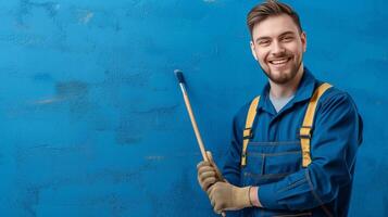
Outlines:
{"type": "Polygon", "coordinates": [[[251,11],[248,13],[247,25],[251,36],[255,24],[259,24],[260,22],[264,21],[270,16],[276,16],[280,14],[289,15],[295,22],[295,24],[297,24],[300,33],[302,33],[302,26],[300,24],[299,15],[296,11],[293,11],[291,7],[281,3],[277,0],[266,0],[263,3],[253,7],[253,9],[251,9],[251,11]]]}

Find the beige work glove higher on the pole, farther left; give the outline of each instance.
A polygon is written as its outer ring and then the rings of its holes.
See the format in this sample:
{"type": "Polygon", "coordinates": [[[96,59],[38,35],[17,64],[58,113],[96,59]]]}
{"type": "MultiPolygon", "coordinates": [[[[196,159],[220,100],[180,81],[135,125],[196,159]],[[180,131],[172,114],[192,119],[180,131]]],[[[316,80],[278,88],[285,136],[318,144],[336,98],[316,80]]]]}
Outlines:
{"type": "Polygon", "coordinates": [[[197,178],[199,186],[204,192],[217,181],[225,181],[217,165],[213,161],[212,153],[206,151],[209,162],[202,161],[197,165],[197,178]]]}

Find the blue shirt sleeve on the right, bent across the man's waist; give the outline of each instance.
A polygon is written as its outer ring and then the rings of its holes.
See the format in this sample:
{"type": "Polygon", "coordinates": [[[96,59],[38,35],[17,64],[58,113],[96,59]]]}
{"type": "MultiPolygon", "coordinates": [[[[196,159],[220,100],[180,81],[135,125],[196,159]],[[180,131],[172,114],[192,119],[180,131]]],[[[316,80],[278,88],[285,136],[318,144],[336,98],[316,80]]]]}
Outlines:
{"type": "MultiPolygon", "coordinates": [[[[323,100],[323,99],[322,99],[323,100]]],[[[259,200],[268,209],[310,209],[329,203],[352,182],[362,142],[362,120],[350,95],[326,98],[315,114],[312,163],[280,181],[260,186],[259,200]]]]}

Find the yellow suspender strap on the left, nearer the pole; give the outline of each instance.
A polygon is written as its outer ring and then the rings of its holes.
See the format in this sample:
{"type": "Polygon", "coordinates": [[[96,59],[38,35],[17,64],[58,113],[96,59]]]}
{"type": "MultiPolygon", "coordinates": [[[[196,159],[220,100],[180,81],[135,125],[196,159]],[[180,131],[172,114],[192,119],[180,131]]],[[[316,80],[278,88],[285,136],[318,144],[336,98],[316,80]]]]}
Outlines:
{"type": "Polygon", "coordinates": [[[249,106],[247,120],[246,120],[246,129],[243,129],[242,133],[242,154],[241,154],[241,166],[247,165],[247,146],[249,143],[249,139],[252,138],[252,125],[254,122],[254,117],[256,116],[256,108],[259,105],[260,95],[254,98],[249,106]]]}

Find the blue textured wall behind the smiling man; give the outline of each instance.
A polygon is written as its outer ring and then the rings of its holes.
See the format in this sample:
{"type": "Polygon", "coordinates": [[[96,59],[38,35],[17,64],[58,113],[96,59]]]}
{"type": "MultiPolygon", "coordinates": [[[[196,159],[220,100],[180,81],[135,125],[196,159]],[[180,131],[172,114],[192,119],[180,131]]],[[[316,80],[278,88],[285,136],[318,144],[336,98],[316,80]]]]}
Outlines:
{"type": "MultiPolygon", "coordinates": [[[[255,2],[1,1],[0,216],[212,216],[173,69],[221,164],[265,82],[245,26],[255,2]]],[[[351,216],[388,216],[388,3],[288,2],[306,65],[364,118],[351,216]]]]}

